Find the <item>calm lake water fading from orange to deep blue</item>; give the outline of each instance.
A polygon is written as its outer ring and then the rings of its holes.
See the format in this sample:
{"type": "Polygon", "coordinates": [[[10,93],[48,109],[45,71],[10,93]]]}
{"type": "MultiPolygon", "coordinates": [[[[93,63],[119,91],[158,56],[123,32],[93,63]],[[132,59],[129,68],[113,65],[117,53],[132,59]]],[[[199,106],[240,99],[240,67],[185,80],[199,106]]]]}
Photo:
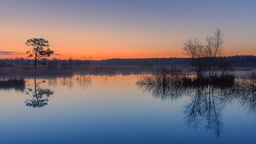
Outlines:
{"type": "Polygon", "coordinates": [[[140,78],[77,75],[6,84],[0,143],[256,143],[255,95],[166,90],[140,86],[140,78]]]}

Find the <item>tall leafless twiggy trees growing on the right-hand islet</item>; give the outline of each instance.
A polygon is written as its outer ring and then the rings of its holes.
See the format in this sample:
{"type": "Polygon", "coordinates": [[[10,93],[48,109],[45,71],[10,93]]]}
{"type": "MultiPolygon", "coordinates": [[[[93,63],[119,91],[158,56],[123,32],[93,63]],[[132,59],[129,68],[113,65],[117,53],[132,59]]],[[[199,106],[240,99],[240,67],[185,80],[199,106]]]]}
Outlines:
{"type": "Polygon", "coordinates": [[[191,64],[195,67],[197,78],[210,78],[216,72],[214,60],[221,56],[224,44],[224,35],[218,29],[213,36],[207,37],[203,43],[198,39],[189,39],[184,43],[183,50],[191,58],[191,64]]]}

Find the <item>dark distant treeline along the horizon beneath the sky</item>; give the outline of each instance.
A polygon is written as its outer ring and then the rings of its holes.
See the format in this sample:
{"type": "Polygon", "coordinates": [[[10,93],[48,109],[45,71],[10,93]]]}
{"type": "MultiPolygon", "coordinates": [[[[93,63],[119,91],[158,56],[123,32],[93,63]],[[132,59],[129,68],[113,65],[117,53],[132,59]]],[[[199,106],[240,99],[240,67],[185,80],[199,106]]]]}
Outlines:
{"type": "MultiPolygon", "coordinates": [[[[254,67],[256,56],[236,55],[216,58],[225,61],[233,67],[254,67]]],[[[54,67],[87,67],[87,66],[189,66],[189,58],[148,58],[148,59],[109,59],[109,60],[39,60],[38,66],[54,67]]],[[[0,67],[33,66],[33,60],[28,59],[1,59],[0,67]]]]}

